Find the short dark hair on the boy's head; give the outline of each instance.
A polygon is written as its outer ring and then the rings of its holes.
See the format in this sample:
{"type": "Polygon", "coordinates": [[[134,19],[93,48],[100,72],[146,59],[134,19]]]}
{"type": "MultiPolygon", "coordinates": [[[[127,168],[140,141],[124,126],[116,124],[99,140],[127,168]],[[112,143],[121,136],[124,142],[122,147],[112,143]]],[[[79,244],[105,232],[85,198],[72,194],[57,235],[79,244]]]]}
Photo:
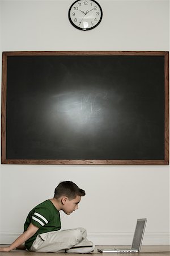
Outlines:
{"type": "Polygon", "coordinates": [[[58,184],[54,191],[54,198],[67,196],[69,200],[75,199],[76,196],[85,196],[86,193],[79,188],[73,181],[62,181],[58,184]]]}

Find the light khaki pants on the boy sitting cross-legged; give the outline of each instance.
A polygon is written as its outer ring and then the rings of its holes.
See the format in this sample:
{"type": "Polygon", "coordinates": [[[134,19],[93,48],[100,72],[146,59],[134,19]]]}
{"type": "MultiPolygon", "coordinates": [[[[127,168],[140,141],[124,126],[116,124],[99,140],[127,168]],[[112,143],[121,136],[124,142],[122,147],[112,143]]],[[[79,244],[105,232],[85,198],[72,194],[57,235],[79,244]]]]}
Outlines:
{"type": "MultiPolygon", "coordinates": [[[[87,231],[84,228],[66,229],[39,234],[29,251],[65,253],[65,249],[70,249],[75,245],[77,247],[79,246],[79,243],[80,246],[91,246],[92,248],[93,243],[88,241],[86,236],[87,231]]],[[[87,251],[86,253],[88,252],[90,251],[87,251]]]]}

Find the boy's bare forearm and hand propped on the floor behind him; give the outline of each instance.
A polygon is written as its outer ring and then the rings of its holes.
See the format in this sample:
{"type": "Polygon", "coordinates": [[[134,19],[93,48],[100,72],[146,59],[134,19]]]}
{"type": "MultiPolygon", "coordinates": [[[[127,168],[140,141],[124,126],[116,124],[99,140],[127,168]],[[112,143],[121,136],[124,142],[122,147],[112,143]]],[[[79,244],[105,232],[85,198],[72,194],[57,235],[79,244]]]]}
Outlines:
{"type": "Polygon", "coordinates": [[[7,247],[0,247],[0,251],[11,251],[18,247],[19,245],[22,245],[25,241],[27,241],[30,237],[32,237],[39,228],[32,223],[28,226],[28,229],[21,234],[13,243],[11,243],[10,246],[7,247]]]}

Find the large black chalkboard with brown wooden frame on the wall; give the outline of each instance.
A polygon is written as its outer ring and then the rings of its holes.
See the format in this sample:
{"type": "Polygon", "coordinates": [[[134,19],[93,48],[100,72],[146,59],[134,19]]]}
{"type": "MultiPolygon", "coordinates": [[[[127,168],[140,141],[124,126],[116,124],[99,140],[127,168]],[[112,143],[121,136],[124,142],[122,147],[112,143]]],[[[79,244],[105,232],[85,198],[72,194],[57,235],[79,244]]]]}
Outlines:
{"type": "Polygon", "coordinates": [[[168,164],[168,52],[3,52],[6,164],[168,164]]]}

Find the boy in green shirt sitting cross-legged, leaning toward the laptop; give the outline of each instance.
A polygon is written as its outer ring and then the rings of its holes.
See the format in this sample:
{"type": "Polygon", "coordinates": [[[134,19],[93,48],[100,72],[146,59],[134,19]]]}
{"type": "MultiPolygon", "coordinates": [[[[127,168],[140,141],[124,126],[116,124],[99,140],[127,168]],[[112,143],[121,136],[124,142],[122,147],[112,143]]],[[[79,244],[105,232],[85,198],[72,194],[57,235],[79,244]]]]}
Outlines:
{"type": "Polygon", "coordinates": [[[29,251],[53,253],[90,253],[94,250],[88,241],[86,229],[61,229],[59,210],[70,215],[76,209],[85,191],[72,181],[63,181],[54,191],[53,199],[48,199],[29,212],[24,224],[24,233],[10,246],[0,247],[0,251],[11,251],[22,243],[29,251]]]}

